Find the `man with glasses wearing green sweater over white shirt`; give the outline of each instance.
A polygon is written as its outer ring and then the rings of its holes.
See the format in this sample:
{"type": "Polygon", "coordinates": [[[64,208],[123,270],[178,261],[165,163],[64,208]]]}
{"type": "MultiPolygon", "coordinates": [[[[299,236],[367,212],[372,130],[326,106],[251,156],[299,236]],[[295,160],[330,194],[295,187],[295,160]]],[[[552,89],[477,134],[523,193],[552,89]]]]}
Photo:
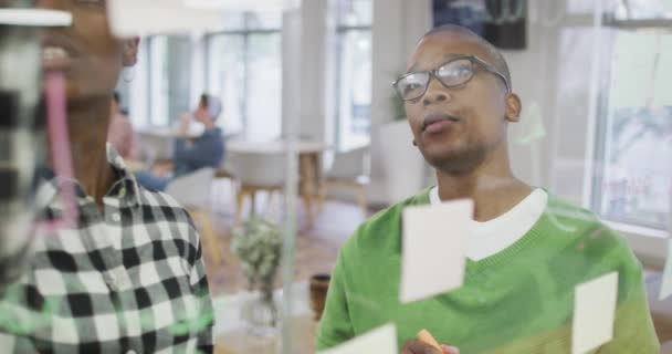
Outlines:
{"type": "Polygon", "coordinates": [[[318,348],[391,322],[403,354],[440,354],[414,339],[422,329],[443,353],[569,353],[575,287],[618,271],[613,340],[599,353],[658,353],[641,267],[626,241],[513,175],[507,127],[522,104],[497,50],[447,25],[422,37],[408,67],[393,85],[438,186],[374,216],[340,249],[318,348]],[[463,287],[400,303],[403,208],[462,198],[475,205],[463,287]]]}

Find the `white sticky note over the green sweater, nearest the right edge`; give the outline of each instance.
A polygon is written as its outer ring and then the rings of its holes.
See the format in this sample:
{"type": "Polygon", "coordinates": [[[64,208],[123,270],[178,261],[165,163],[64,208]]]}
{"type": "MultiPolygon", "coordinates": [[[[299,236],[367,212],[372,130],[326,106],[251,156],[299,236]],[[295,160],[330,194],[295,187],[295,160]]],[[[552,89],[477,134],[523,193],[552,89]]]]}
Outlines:
{"type": "Polygon", "coordinates": [[[580,354],[608,343],[613,336],[618,272],[579,284],[575,291],[571,353],[580,354]]]}

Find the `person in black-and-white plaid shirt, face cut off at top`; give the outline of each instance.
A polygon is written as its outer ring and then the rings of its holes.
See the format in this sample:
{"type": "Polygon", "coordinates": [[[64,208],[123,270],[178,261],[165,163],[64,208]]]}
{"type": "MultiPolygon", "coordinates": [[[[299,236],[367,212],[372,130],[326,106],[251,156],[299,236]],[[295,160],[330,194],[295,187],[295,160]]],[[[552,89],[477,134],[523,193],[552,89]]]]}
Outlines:
{"type": "Polygon", "coordinates": [[[65,75],[75,180],[45,179],[35,202],[43,219],[60,218],[70,184],[78,216],[33,237],[28,269],[0,294],[0,352],[211,353],[212,304],[189,215],[138,186],[106,144],[109,101],[138,42],[113,38],[105,0],[38,6],[73,15],[45,31],[43,69],[65,75]]]}

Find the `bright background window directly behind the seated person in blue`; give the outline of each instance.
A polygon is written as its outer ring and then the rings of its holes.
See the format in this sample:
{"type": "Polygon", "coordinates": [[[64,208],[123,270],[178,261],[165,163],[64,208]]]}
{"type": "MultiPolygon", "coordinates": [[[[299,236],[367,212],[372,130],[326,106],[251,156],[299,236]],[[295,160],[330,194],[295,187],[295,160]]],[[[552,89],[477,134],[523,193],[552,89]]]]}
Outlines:
{"type": "Polygon", "coordinates": [[[282,132],[282,17],[237,19],[208,37],[208,91],[222,100],[224,132],[270,140],[282,132]]]}

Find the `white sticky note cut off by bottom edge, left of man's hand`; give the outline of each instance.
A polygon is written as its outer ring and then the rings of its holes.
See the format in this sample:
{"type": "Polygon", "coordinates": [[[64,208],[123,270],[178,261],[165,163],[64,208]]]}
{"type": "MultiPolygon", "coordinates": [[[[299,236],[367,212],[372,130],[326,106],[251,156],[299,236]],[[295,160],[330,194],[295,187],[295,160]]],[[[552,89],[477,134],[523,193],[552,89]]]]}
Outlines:
{"type": "Polygon", "coordinates": [[[347,343],[333,348],[318,352],[318,354],[398,354],[397,327],[393,324],[386,324],[376,330],[371,330],[347,343]]]}

